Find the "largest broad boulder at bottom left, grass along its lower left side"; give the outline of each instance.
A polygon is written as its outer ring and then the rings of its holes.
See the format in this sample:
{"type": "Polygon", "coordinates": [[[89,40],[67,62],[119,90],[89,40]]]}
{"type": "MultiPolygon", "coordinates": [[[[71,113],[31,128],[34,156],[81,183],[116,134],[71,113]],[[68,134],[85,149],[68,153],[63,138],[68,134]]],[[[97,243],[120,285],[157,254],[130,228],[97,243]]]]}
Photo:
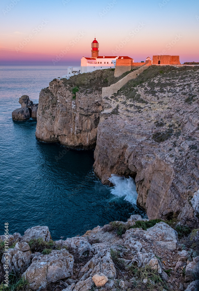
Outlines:
{"type": "Polygon", "coordinates": [[[72,276],[73,263],[73,255],[66,249],[54,250],[49,255],[33,258],[32,264],[22,277],[28,280],[32,290],[40,290],[48,283],[72,276]]]}

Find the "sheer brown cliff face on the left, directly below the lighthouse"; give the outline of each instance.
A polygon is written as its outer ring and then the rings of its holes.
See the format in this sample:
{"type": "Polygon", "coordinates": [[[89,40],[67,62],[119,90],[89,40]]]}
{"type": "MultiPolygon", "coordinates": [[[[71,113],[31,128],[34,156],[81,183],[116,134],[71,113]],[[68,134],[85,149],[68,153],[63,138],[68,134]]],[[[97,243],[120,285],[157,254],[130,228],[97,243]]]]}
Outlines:
{"type": "Polygon", "coordinates": [[[96,145],[99,94],[76,93],[63,81],[52,81],[40,93],[36,137],[46,142],[60,142],[71,148],[94,148],[96,145]]]}

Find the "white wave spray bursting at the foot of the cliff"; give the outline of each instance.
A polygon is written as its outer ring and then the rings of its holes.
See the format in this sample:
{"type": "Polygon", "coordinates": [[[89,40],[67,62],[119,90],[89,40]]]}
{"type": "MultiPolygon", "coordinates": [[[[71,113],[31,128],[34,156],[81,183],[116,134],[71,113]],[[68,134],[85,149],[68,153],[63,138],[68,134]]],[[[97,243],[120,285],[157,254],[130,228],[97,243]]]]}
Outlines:
{"type": "Polygon", "coordinates": [[[114,184],[111,189],[111,193],[118,197],[124,197],[124,200],[129,201],[132,204],[136,204],[137,191],[135,181],[133,178],[125,178],[112,174],[109,181],[114,184]]]}

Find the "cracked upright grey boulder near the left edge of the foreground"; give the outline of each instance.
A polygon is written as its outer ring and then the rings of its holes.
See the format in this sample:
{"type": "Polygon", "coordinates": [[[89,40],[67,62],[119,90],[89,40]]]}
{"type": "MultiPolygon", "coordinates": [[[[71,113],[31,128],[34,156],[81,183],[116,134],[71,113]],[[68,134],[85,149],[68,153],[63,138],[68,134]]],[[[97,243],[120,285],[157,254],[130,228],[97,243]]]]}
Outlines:
{"type": "MultiPolygon", "coordinates": [[[[15,245],[14,249],[8,249],[8,268],[9,272],[14,272],[19,275],[26,271],[31,265],[31,250],[30,246],[26,242],[15,245]]],[[[5,264],[7,255],[3,254],[1,262],[5,264]]]]}

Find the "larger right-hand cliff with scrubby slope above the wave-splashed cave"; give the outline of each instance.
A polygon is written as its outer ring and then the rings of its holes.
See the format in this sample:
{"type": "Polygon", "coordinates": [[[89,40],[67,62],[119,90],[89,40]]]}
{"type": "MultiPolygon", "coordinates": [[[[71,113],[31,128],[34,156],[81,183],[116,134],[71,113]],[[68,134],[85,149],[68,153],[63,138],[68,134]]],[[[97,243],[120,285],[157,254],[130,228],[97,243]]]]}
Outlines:
{"type": "Polygon", "coordinates": [[[135,177],[137,204],[150,218],[191,212],[199,188],[198,81],[198,71],[173,71],[103,99],[114,110],[100,116],[95,173],[103,183],[112,173],[135,177]]]}

